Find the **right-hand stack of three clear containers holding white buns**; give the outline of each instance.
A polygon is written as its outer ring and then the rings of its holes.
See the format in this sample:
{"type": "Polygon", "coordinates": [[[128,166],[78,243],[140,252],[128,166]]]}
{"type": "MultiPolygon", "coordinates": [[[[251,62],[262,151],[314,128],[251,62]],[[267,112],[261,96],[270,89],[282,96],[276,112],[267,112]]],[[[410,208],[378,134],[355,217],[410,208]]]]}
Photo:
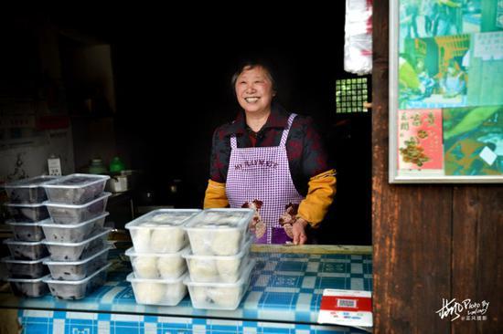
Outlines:
{"type": "Polygon", "coordinates": [[[192,306],[236,309],[250,284],[252,209],[208,209],[185,225],[191,250],[187,260],[192,306]]]}

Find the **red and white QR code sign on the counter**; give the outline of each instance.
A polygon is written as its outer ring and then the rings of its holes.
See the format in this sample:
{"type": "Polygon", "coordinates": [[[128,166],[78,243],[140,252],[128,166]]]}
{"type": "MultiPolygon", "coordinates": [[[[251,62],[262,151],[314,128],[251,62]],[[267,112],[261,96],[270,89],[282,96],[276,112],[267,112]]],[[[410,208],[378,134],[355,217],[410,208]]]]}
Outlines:
{"type": "Polygon", "coordinates": [[[372,327],[372,293],[359,290],[323,290],[318,323],[372,327]]]}

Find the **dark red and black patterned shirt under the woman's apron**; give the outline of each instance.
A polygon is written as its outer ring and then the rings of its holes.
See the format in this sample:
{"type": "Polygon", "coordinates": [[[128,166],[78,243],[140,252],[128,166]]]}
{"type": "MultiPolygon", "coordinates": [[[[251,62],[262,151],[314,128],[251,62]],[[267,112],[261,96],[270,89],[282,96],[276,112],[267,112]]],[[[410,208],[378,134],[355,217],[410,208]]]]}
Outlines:
{"type": "MultiPolygon", "coordinates": [[[[244,111],[236,120],[224,124],[213,133],[210,179],[226,183],[230,161],[230,136],[236,134],[239,148],[278,146],[290,113],[273,103],[271,115],[262,129],[254,132],[246,124],[244,111]]],[[[290,173],[299,193],[307,193],[309,179],[330,168],[321,137],[310,117],[297,115],[288,133],[286,153],[290,173]]]]}

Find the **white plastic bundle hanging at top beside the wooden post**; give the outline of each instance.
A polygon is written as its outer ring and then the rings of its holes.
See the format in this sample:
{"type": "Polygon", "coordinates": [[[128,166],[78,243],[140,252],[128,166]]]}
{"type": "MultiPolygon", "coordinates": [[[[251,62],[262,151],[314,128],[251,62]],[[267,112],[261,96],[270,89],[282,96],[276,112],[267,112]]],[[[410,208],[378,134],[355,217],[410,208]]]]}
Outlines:
{"type": "Polygon", "coordinates": [[[346,0],[344,70],[358,75],[372,71],[372,0],[346,0]]]}

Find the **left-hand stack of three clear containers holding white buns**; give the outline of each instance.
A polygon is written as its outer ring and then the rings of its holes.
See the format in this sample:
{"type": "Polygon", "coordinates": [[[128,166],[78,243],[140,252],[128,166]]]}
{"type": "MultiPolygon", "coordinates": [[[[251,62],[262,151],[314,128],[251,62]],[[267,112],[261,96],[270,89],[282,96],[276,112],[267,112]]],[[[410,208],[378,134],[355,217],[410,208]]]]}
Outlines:
{"type": "Polygon", "coordinates": [[[133,273],[131,282],[138,304],[175,306],[186,295],[183,281],[187,265],[186,222],[199,214],[198,209],[160,209],[144,214],[125,225],[133,247],[126,251],[133,273]]]}

